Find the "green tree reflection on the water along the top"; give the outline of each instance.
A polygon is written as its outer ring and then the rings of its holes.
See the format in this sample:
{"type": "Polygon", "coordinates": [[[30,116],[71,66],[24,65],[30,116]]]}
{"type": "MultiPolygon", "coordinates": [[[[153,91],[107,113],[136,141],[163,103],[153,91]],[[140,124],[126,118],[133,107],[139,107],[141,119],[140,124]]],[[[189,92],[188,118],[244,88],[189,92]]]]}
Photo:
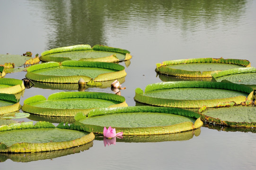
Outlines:
{"type": "MultiPolygon", "coordinates": [[[[43,8],[47,49],[74,44],[105,44],[107,34],[170,26],[186,37],[199,27],[218,29],[227,22],[238,23],[247,0],[36,0],[43,8]],[[56,8],[57,7],[57,8],[56,8]],[[150,25],[150,26],[149,26],[150,25]],[[181,32],[180,32],[181,31],[181,32]]],[[[35,0],[30,0],[35,4],[35,0]]],[[[162,33],[163,35],[165,33],[162,33]]]]}

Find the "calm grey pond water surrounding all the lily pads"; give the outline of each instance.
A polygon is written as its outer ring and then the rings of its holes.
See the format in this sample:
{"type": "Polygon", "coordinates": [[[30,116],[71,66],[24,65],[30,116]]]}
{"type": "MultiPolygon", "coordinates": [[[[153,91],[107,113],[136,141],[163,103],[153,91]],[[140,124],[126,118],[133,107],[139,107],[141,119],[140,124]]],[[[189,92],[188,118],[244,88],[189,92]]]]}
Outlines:
{"type": "MultiPolygon", "coordinates": [[[[129,67],[120,63],[127,72],[122,84],[126,89],[121,94],[129,106],[136,104],[137,87],[161,82],[155,68],[165,60],[223,57],[247,59],[256,67],[256,0],[1,0],[0,16],[1,54],[31,51],[35,56],[75,44],[103,44],[131,51],[129,67]]],[[[22,79],[25,75],[19,72],[6,77],[22,79]]],[[[76,90],[32,87],[25,90],[20,103],[36,94],[48,98],[62,91],[76,90]]],[[[110,88],[86,91],[113,93],[110,88]]],[[[183,140],[173,141],[168,136],[156,142],[120,139],[106,147],[98,137],[93,146],[84,151],[81,148],[81,152],[73,149],[68,155],[28,163],[17,162],[21,158],[7,159],[0,168],[256,169],[253,130],[204,125],[197,135],[183,140]]]]}

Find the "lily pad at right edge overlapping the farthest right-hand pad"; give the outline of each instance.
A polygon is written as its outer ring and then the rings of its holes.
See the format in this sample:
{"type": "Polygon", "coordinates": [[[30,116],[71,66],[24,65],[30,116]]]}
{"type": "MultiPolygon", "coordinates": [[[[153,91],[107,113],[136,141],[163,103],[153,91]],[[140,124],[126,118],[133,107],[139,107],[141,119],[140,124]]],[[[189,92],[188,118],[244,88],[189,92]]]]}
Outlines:
{"type": "Polygon", "coordinates": [[[234,68],[212,74],[215,81],[229,81],[256,90],[256,68],[234,68]]]}

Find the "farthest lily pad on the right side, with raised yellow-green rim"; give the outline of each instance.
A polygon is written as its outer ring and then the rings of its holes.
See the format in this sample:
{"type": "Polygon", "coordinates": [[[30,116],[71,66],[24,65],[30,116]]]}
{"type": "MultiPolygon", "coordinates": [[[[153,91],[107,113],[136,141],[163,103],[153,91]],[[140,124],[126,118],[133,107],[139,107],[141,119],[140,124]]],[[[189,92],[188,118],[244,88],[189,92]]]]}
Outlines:
{"type": "Polygon", "coordinates": [[[212,77],[212,73],[221,70],[250,66],[250,62],[245,59],[178,59],[158,63],[156,71],[171,76],[212,77]]]}

